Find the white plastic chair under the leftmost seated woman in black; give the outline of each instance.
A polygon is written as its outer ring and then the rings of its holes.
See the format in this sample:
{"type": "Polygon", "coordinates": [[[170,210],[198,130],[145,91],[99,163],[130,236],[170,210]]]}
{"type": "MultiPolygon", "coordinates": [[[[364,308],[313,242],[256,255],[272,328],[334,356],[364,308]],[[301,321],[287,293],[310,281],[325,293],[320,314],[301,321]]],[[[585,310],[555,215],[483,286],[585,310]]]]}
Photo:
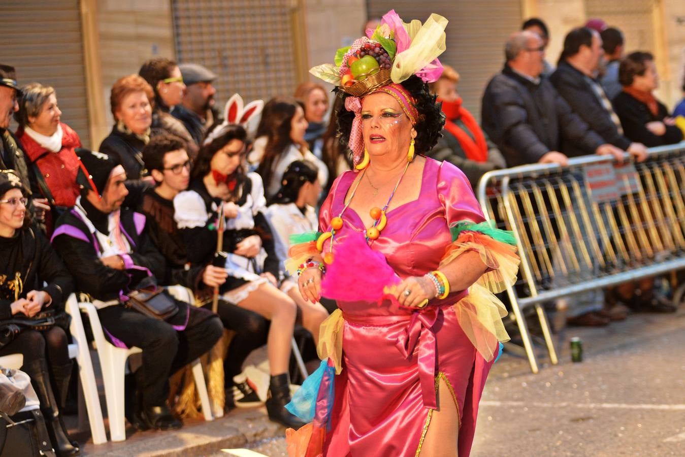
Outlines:
{"type": "MultiPolygon", "coordinates": [[[[100,408],[100,399],[97,393],[97,384],[95,382],[95,373],[92,369],[92,362],[90,360],[90,351],[88,350],[88,341],[84,332],[83,322],[81,321],[81,314],[78,311],[78,304],[74,294],[69,295],[69,299],[65,304],[66,312],[71,314],[71,325],[69,330],[73,336],[74,343],[70,344],[69,358],[75,359],[79,367],[79,391],[82,391],[85,399],[85,408],[88,412],[88,421],[90,422],[90,432],[92,434],[92,442],[95,444],[107,443],[107,435],[105,434],[105,425],[102,420],[102,410],[100,408]],[[76,310],[76,312],[74,312],[76,310]]],[[[24,356],[22,354],[10,354],[9,356],[0,357],[0,366],[20,369],[24,363],[24,356]]],[[[24,410],[32,410],[38,408],[27,407],[24,410]]],[[[79,425],[84,421],[84,404],[79,395],[79,425]]]]}

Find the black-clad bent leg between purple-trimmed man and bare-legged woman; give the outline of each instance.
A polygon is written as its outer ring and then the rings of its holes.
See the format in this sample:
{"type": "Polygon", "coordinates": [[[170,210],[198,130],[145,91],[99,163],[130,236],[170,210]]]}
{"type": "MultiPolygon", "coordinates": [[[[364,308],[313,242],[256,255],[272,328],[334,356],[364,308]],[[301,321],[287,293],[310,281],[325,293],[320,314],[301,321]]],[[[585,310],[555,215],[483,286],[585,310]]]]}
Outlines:
{"type": "MultiPolygon", "coordinates": [[[[212,304],[206,305],[205,308],[211,310],[212,304]]],[[[236,332],[223,361],[225,384],[232,386],[233,377],[240,374],[242,364],[250,352],[266,344],[269,321],[256,312],[240,308],[240,306],[223,300],[219,300],[216,314],[219,314],[221,323],[225,328],[236,332]]]]}

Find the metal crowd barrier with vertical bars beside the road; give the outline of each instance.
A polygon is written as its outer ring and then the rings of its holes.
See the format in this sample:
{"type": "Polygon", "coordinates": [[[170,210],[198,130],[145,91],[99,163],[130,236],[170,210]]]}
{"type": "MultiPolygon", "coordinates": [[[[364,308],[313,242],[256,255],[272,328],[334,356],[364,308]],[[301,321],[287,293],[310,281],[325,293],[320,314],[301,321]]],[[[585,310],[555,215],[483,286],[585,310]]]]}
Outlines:
{"type": "Polygon", "coordinates": [[[517,166],[478,184],[486,218],[518,240],[519,278],[507,294],[533,373],[525,308],[534,306],[556,365],[545,302],[685,268],[685,142],[651,148],[642,163],[625,157],[517,166]]]}

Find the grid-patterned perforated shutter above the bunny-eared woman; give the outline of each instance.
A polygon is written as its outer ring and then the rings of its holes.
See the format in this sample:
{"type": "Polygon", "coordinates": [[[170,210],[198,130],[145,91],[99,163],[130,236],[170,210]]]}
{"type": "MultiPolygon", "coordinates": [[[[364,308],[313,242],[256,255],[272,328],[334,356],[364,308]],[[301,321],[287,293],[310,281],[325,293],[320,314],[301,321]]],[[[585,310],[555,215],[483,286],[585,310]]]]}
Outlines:
{"type": "MultiPolygon", "coordinates": [[[[176,58],[219,75],[215,98],[292,95],[297,43],[290,0],[173,0],[176,58]]],[[[217,105],[217,108],[220,108],[217,105]]]]}

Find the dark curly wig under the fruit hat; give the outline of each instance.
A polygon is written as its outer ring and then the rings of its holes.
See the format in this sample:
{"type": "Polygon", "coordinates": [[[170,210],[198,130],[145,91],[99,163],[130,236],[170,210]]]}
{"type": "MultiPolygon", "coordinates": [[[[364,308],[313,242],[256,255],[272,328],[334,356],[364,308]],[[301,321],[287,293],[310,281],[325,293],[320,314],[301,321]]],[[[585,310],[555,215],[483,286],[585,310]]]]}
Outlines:
{"type": "MultiPolygon", "coordinates": [[[[414,150],[417,154],[425,154],[438,143],[438,139],[443,136],[443,126],[445,126],[445,114],[440,110],[441,103],[436,103],[436,95],[432,95],[428,90],[428,84],[423,82],[418,76],[410,76],[409,79],[401,83],[402,86],[416,100],[416,110],[419,112],[419,122],[414,125],[416,138],[414,150]]],[[[338,97],[340,97],[338,92],[338,97]]],[[[350,95],[343,93],[343,103],[340,103],[338,110],[338,134],[340,143],[347,145],[349,133],[352,129],[354,113],[345,109],[344,100],[350,95]]]]}

